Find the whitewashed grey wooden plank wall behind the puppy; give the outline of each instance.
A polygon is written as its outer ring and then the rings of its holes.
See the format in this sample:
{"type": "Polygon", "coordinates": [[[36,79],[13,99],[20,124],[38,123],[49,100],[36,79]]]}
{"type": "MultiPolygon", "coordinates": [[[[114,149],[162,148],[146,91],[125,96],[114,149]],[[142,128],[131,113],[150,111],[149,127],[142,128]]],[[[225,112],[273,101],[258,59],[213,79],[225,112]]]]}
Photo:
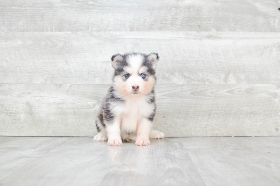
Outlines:
{"type": "Polygon", "coordinates": [[[158,52],[155,129],[166,136],[279,136],[279,7],[1,1],[0,135],[94,136],[110,57],[158,52]]]}

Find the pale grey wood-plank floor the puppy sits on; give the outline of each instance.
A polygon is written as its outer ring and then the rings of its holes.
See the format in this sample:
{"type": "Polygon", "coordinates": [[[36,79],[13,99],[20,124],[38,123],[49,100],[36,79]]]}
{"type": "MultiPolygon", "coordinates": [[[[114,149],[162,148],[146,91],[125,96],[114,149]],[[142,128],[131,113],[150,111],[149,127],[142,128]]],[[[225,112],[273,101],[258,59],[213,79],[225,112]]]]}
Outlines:
{"type": "Polygon", "coordinates": [[[90,137],[0,136],[0,185],[280,185],[280,136],[107,146],[90,137]]]}

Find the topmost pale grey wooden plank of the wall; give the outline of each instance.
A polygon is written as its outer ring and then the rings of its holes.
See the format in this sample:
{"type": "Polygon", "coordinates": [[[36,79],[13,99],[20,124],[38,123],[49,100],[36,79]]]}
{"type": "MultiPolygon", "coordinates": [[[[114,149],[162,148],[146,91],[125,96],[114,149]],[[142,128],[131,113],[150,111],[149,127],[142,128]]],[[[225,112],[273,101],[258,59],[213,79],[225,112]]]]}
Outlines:
{"type": "Polygon", "coordinates": [[[279,1],[1,1],[0,31],[279,32],[279,1]]]}

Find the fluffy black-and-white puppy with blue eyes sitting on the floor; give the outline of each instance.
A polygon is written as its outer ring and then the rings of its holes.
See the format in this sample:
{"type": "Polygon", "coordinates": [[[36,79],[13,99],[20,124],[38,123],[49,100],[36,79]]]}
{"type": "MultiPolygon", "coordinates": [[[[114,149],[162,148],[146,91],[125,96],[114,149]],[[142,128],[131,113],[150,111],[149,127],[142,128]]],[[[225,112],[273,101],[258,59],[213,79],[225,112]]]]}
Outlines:
{"type": "Polygon", "coordinates": [[[150,145],[149,138],[164,138],[152,130],[155,117],[155,68],[157,53],[116,54],[112,56],[115,69],[113,83],[104,97],[96,117],[99,132],[95,141],[122,145],[122,140],[136,140],[136,145],[150,145]]]}

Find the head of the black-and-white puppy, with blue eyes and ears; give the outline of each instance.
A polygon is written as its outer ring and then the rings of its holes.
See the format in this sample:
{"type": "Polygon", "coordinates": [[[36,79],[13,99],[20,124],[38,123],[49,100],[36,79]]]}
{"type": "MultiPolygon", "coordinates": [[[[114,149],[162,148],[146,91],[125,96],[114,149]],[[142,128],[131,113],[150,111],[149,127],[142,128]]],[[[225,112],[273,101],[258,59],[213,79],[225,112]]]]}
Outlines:
{"type": "Polygon", "coordinates": [[[159,60],[157,53],[116,54],[111,60],[115,68],[113,82],[121,94],[141,96],[151,92],[156,81],[155,68],[159,60]]]}

